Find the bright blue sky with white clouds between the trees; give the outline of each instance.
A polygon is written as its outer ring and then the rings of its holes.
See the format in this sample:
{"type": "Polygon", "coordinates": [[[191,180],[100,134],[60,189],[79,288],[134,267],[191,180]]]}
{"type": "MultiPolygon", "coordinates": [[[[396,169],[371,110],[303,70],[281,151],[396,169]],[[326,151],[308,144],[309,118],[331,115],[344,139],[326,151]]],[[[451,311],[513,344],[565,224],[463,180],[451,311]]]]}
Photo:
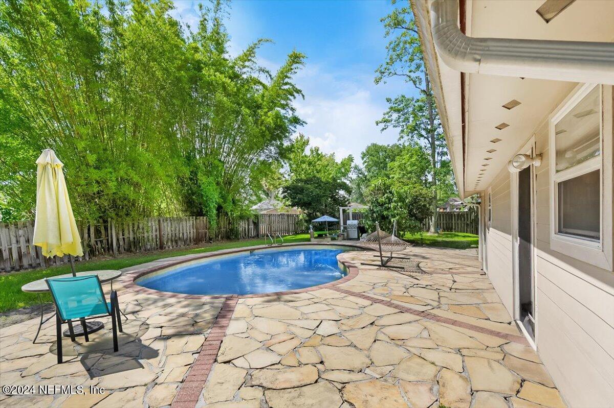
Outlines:
{"type": "MultiPolygon", "coordinates": [[[[198,1],[175,0],[173,15],[196,28],[198,1]]],[[[295,101],[306,121],[297,129],[311,145],[336,159],[360,153],[370,143],[395,143],[395,130],[380,132],[375,121],[386,111],[386,97],[408,86],[400,80],[375,85],[375,70],[384,61],[386,43],[380,19],[392,10],[384,0],[237,0],[225,21],[230,54],[259,38],[260,64],[276,69],[292,50],[304,53],[306,64],[295,80],[305,99],[295,101]]]]}

